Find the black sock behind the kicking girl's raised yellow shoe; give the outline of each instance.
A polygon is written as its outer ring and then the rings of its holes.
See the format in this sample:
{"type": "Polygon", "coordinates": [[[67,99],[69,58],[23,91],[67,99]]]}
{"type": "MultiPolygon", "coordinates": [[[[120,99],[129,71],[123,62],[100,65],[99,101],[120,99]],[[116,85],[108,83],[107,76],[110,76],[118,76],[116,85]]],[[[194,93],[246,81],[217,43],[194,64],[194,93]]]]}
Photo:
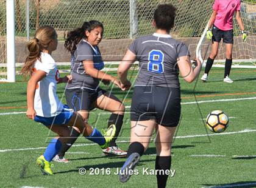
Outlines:
{"type": "Polygon", "coordinates": [[[108,119],[107,127],[111,126],[112,124],[115,124],[116,133],[115,133],[114,138],[110,142],[109,146],[116,146],[116,139],[117,139],[119,132],[121,130],[121,127],[123,125],[123,119],[124,119],[124,115],[119,115],[119,114],[115,114],[115,113],[112,113],[112,115],[110,115],[110,117],[108,119]]]}

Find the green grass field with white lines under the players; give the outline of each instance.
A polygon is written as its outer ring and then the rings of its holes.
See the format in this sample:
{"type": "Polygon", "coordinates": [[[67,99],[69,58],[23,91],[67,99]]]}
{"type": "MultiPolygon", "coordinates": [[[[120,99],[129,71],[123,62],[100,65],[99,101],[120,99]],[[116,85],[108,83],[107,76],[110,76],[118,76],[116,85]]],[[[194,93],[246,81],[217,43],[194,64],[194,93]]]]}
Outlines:
{"type": "MultiPolygon", "coordinates": [[[[130,72],[129,76],[133,80],[135,75],[130,72]]],[[[256,187],[256,69],[232,69],[233,84],[224,83],[223,75],[223,68],[214,68],[206,83],[188,84],[180,79],[182,118],[172,145],[171,166],[176,171],[169,176],[167,187],[256,187]],[[230,117],[229,127],[219,134],[206,130],[202,120],[218,109],[230,117]]],[[[65,84],[58,87],[65,103],[65,84]]],[[[0,187],[157,187],[155,175],[143,175],[143,168],[155,166],[154,141],[137,166],[140,174],[125,184],[115,175],[125,159],[102,155],[99,146],[81,136],[66,153],[70,163],[53,163],[54,176],[42,175],[35,159],[54,133],[26,118],[26,81],[21,76],[15,83],[0,83],[0,91],[0,187]],[[86,175],[79,175],[81,167],[87,170],[86,175]],[[89,174],[91,168],[94,175],[89,174]],[[96,175],[96,168],[104,170],[96,175]],[[106,174],[108,168],[110,175],[106,174]]],[[[129,146],[132,91],[112,90],[119,99],[125,99],[127,107],[118,138],[122,149],[129,146]]],[[[89,123],[104,129],[109,115],[94,110],[89,123]]]]}

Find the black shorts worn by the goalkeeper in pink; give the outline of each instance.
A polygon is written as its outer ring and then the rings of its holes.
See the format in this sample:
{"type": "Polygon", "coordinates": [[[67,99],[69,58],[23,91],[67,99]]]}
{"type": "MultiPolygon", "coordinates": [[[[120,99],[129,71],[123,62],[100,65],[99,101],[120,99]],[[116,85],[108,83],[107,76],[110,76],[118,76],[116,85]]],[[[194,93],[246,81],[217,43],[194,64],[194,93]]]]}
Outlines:
{"type": "Polygon", "coordinates": [[[226,44],[233,44],[234,43],[234,35],[233,35],[233,29],[228,31],[223,31],[221,29],[218,29],[215,25],[213,25],[213,42],[221,42],[221,39],[223,39],[223,42],[226,44]]]}

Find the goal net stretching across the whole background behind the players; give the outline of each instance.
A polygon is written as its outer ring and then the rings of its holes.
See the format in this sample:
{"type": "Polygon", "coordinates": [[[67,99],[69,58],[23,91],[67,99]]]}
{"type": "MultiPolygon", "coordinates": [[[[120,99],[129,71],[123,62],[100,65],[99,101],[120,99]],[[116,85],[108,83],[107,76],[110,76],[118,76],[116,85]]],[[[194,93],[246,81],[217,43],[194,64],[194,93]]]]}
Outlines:
{"type": "MultiPolygon", "coordinates": [[[[14,1],[14,0],[9,0],[14,1]]],[[[115,68],[121,61],[133,39],[154,32],[151,21],[154,10],[160,3],[172,3],[177,7],[177,17],[171,35],[185,42],[191,58],[197,53],[208,58],[211,45],[205,40],[205,26],[212,14],[213,0],[16,0],[15,1],[15,56],[16,72],[26,56],[27,38],[34,36],[40,25],[52,25],[59,35],[58,49],[53,53],[60,69],[69,69],[70,55],[64,49],[63,35],[66,31],[80,27],[84,21],[96,19],[104,24],[104,39],[99,48],[108,68],[115,68]],[[199,44],[199,45],[197,45],[199,44]],[[115,62],[115,63],[110,63],[115,62]],[[115,65],[116,64],[116,65],[115,65]]],[[[6,76],[6,0],[0,0],[0,78],[6,76]]],[[[255,67],[256,59],[256,2],[241,1],[241,16],[248,32],[243,42],[240,29],[234,19],[235,44],[233,59],[235,65],[255,67]]],[[[224,45],[220,45],[216,62],[225,59],[224,45]]],[[[111,69],[115,70],[115,69],[111,69]]]]}

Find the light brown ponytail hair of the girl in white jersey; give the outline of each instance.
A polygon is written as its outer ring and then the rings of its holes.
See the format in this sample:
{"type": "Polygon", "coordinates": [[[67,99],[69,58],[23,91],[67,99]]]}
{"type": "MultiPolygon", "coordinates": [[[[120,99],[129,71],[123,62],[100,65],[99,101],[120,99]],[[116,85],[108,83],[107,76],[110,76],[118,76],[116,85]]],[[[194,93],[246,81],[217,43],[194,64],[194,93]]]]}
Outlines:
{"type": "Polygon", "coordinates": [[[43,49],[48,49],[49,43],[52,41],[52,39],[56,38],[57,33],[51,26],[44,25],[37,29],[34,39],[27,43],[29,55],[27,56],[23,68],[21,69],[21,73],[25,77],[27,77],[27,75],[31,75],[35,61],[37,61],[37,59],[40,60],[40,52],[42,52],[43,49]]]}

